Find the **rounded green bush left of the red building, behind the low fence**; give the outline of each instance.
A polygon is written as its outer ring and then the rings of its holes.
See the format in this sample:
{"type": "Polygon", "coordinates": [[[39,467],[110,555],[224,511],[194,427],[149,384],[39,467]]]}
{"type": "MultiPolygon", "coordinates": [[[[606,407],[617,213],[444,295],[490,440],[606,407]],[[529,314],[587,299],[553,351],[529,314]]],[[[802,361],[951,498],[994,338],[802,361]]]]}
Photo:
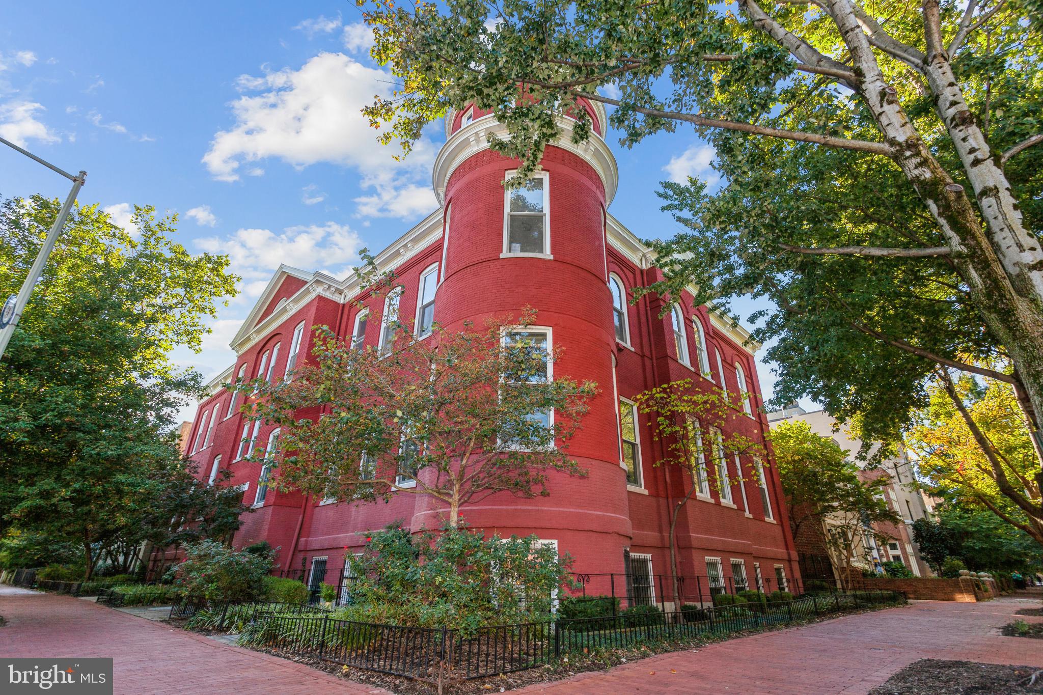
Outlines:
{"type": "Polygon", "coordinates": [[[271,555],[271,551],[261,555],[201,541],[185,547],[185,562],[175,568],[176,581],[189,596],[209,601],[257,600],[264,596],[271,555]]]}

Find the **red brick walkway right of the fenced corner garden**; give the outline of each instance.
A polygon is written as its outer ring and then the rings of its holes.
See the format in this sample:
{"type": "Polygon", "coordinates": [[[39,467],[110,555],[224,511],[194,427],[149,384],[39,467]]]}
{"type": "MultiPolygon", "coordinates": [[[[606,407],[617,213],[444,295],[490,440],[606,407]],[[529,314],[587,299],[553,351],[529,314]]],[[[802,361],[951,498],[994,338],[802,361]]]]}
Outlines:
{"type": "MultiPolygon", "coordinates": [[[[675,651],[518,693],[866,693],[918,659],[1043,667],[1039,640],[997,627],[1039,601],[917,601],[912,605],[675,651]],[[652,673],[654,672],[654,673],[652,673]]],[[[1039,618],[1024,618],[1039,622],[1039,618]]]]}

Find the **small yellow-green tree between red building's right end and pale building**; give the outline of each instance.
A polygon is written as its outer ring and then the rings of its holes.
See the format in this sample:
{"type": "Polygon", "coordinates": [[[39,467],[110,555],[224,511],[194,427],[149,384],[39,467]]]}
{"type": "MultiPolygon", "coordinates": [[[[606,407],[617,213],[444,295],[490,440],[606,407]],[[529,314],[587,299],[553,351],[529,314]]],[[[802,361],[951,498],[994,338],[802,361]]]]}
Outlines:
{"type": "Polygon", "coordinates": [[[806,422],[781,423],[772,430],[771,441],[794,536],[802,524],[819,526],[841,586],[849,588],[858,548],[868,553],[865,539],[882,543],[888,538],[873,524],[901,522],[883,497],[891,478],[864,480],[848,451],[812,432],[806,422]]]}

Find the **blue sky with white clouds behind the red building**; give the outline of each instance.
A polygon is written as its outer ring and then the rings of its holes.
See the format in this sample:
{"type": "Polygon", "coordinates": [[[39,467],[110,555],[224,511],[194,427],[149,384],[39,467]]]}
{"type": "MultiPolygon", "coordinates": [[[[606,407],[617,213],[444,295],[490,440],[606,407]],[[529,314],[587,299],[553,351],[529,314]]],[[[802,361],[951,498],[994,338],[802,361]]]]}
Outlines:
{"type": "MultiPolygon", "coordinates": [[[[280,263],[343,276],[360,248],[384,248],[436,204],[441,123],[399,164],[359,114],[389,78],[354,3],[2,0],[0,17],[0,135],[87,170],[80,202],[124,222],[135,203],[176,212],[190,251],[231,255],[240,295],[201,353],[173,355],[208,378],[235,359],[228,340],[280,263]]],[[[672,235],[659,181],[715,180],[712,149],[684,127],[632,150],[608,140],[612,214],[641,238],[672,235]]],[[[67,191],[0,152],[0,195],[67,191]]],[[[773,376],[759,373],[770,395],[773,376]]]]}

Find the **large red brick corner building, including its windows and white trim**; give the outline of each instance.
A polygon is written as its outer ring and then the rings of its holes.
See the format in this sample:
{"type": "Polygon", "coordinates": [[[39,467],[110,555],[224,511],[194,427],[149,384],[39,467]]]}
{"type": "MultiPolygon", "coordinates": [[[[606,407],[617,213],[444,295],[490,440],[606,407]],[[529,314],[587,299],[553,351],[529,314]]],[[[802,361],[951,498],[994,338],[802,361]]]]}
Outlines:
{"type": "MultiPolygon", "coordinates": [[[[450,329],[464,321],[481,325],[485,317],[516,316],[531,305],[539,326],[530,333],[541,333],[548,348],[563,348],[554,373],[599,384],[569,445],[588,475],[554,476],[548,497],[491,497],[465,506],[462,516],[488,532],[535,533],[556,544],[575,557],[588,593],[614,590],[639,602],[663,602],[659,575],[670,573],[668,514],[676,503],[672,495],[683,486],[678,471],[654,467],[661,443],[630,399],[655,384],[689,378],[702,389],[746,394],[736,398],[726,430],[762,443],[768,420],[744,329],[705,306],[694,309],[687,294],[673,305],[656,297],[630,303],[634,288],[661,273],[637,237],[607,214],[617,170],[601,136],[605,113],[600,105],[587,108],[598,136],[574,146],[566,123],[531,184],[515,195],[505,193],[502,181],[518,163],[487,144],[487,135],[503,133],[502,126],[474,108],[447,117],[447,142],[434,165],[441,207],[377,256],[380,268],[394,269],[405,286],[401,295],[375,299],[355,279],[278,268],[233,340],[239,357],[210,384],[192,433],[191,455],[204,477],[215,480],[219,470],[231,469],[232,485],[242,486],[257,507],[245,516],[236,546],[268,541],[280,547],[283,568],[306,569],[313,579],[325,573],[328,584],[337,584],[345,555],[365,544],[359,531],[399,519],[413,529],[437,527],[439,510],[409,494],[365,505],[269,489],[267,471],[242,456],[251,443],[269,442],[273,427],[248,423],[240,414],[244,396],[223,384],[283,378],[312,358],[317,325],[358,347],[383,346],[390,332],[383,321],[392,303],[415,322],[419,336],[432,321],[450,329]]],[[[707,466],[712,470],[715,462],[708,456],[707,466]]],[[[722,463],[731,481],[724,499],[707,490],[686,505],[681,521],[685,595],[697,587],[704,597],[710,589],[752,588],[758,579],[768,590],[790,587],[796,552],[774,466],[765,466],[761,486],[754,473],[761,462],[728,452],[722,463]]],[[[662,582],[669,586],[665,577],[662,582]]]]}

